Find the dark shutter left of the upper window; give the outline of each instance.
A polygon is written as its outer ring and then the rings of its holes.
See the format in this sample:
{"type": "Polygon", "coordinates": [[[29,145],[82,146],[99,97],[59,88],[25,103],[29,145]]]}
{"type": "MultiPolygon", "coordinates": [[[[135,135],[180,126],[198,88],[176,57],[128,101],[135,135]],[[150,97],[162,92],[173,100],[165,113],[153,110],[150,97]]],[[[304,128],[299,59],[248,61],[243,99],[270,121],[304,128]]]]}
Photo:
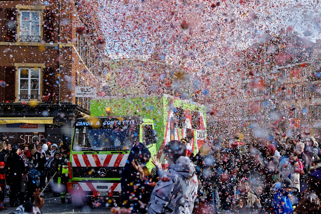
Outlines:
{"type": "Polygon", "coordinates": [[[16,8],[5,9],[5,41],[15,42],[17,36],[16,8]]]}

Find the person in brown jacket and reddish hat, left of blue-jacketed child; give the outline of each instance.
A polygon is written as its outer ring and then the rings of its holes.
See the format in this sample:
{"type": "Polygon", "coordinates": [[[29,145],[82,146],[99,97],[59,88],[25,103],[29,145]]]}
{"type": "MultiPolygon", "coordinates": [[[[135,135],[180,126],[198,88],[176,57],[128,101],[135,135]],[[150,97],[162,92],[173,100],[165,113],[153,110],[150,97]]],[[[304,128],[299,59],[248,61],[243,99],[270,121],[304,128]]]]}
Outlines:
{"type": "Polygon", "coordinates": [[[247,178],[242,178],[238,186],[238,194],[231,206],[233,213],[258,213],[261,210],[260,200],[255,194],[250,192],[252,182],[247,178]]]}

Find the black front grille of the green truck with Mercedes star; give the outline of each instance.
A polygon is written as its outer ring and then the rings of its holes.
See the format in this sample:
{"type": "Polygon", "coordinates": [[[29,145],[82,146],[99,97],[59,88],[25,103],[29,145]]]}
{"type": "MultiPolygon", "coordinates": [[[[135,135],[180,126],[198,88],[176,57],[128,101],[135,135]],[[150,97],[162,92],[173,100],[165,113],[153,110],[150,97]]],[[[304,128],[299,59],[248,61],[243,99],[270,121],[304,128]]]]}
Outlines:
{"type": "MultiPolygon", "coordinates": [[[[72,167],[73,177],[80,178],[120,178],[123,167],[72,167]],[[98,171],[104,168],[106,175],[101,176],[98,171]]],[[[103,171],[103,170],[101,170],[103,171]]],[[[104,172],[105,173],[105,172],[104,172]]]]}

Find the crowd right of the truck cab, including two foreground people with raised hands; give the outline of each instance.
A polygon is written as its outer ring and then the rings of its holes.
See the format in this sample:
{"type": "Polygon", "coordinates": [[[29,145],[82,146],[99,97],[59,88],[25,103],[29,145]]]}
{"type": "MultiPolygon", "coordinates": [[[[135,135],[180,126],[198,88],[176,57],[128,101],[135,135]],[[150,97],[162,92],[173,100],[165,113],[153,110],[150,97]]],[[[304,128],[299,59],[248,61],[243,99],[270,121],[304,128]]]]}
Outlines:
{"type": "Polygon", "coordinates": [[[314,137],[207,140],[196,155],[189,139],[170,141],[167,170],[143,144],[134,145],[122,172],[115,213],[321,213],[321,150],[314,137]],[[191,154],[187,156],[187,154],[191,154]]]}

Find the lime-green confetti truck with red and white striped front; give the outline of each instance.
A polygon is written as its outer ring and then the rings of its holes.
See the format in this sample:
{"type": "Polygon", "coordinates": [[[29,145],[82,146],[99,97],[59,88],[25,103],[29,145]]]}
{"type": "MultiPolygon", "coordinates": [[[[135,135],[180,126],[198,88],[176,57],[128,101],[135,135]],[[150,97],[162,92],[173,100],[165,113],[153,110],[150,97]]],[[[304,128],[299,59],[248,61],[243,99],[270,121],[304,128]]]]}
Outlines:
{"type": "MultiPolygon", "coordinates": [[[[75,122],[68,189],[88,203],[92,196],[120,197],[120,173],[138,140],[166,167],[162,149],[170,140],[188,138],[196,154],[206,138],[203,105],[171,95],[108,96],[91,100],[91,117],[75,122]]],[[[151,161],[146,165],[154,171],[151,161]]]]}

